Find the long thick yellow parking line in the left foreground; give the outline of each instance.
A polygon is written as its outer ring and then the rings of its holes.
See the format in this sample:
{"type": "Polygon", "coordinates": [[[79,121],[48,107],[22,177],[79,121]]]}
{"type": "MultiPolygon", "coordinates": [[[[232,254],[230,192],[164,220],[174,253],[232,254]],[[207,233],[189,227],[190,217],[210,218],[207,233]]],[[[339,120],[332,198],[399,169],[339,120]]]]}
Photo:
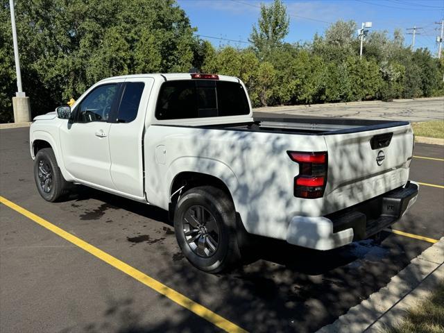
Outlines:
{"type": "Polygon", "coordinates": [[[87,251],[88,253],[91,253],[92,255],[94,255],[94,257],[97,257],[101,259],[103,262],[110,264],[114,268],[117,268],[119,271],[122,271],[123,273],[130,275],[130,277],[134,278],[135,280],[157,291],[157,293],[161,293],[163,296],[169,298],[173,302],[176,302],[178,305],[185,307],[186,309],[189,309],[189,311],[194,312],[194,314],[197,314],[198,316],[206,319],[207,321],[216,325],[222,330],[226,332],[246,332],[246,330],[242,329],[241,327],[228,321],[222,316],[219,316],[219,314],[214,313],[213,311],[207,309],[203,305],[194,302],[194,300],[187,298],[187,296],[178,293],[178,291],[175,291],[174,289],[171,289],[165,284],[162,284],[162,282],[159,282],[151,278],[150,276],[142,273],[136,268],[133,268],[132,266],[126,264],[125,262],[122,262],[116,257],[112,257],[112,255],[103,252],[99,248],[92,246],[86,241],[83,241],[82,239],[74,236],[73,234],[70,234],[69,232],[59,228],[58,226],[53,225],[52,223],[46,221],[45,219],[42,219],[40,216],[37,216],[29,212],[28,210],[24,209],[23,207],[20,207],[19,205],[12,203],[10,200],[3,198],[3,196],[0,196],[0,203],[3,203],[3,205],[10,207],[12,210],[15,210],[16,212],[19,212],[20,214],[26,216],[28,219],[31,219],[35,223],[42,225],[42,227],[54,232],[55,234],[58,234],[58,236],[66,239],[67,241],[87,251]]]}

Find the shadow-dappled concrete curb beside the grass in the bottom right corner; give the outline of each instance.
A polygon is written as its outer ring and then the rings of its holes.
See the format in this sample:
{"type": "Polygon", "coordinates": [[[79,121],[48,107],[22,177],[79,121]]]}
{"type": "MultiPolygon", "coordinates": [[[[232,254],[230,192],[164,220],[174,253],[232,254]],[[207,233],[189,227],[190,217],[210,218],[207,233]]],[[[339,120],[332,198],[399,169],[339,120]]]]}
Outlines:
{"type": "Polygon", "coordinates": [[[434,289],[444,277],[443,264],[444,237],[412,259],[407,267],[391,278],[386,287],[351,307],[334,323],[316,333],[380,332],[387,325],[396,325],[405,309],[413,307],[419,297],[427,295],[426,291],[434,289]]]}

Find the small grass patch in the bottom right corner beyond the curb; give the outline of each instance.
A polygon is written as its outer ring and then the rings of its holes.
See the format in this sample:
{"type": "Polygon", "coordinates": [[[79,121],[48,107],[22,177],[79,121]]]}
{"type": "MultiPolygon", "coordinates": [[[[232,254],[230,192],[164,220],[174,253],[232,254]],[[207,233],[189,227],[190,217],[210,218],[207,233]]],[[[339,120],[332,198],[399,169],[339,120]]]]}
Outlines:
{"type": "Polygon", "coordinates": [[[444,332],[444,280],[434,293],[407,312],[402,323],[386,333],[443,333],[444,332]]]}

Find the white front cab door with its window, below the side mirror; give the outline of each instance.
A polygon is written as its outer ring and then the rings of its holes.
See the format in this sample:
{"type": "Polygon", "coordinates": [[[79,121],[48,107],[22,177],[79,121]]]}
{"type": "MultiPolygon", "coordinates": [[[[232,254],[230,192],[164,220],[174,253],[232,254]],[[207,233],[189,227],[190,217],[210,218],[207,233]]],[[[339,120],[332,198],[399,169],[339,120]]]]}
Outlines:
{"type": "Polygon", "coordinates": [[[71,121],[60,128],[67,171],[81,182],[108,189],[115,189],[110,175],[109,119],[120,87],[121,83],[113,82],[92,89],[72,111],[71,121]]]}

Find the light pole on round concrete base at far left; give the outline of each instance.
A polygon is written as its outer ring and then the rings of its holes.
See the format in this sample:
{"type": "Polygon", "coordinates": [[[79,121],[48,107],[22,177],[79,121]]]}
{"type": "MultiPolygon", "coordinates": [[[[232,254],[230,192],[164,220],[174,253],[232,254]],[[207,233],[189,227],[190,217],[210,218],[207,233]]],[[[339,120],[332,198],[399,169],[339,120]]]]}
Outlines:
{"type": "Polygon", "coordinates": [[[17,43],[17,29],[15,28],[14,1],[9,0],[11,12],[12,44],[14,45],[15,73],[17,75],[17,92],[12,97],[12,108],[14,110],[14,122],[22,123],[31,121],[31,108],[29,97],[26,97],[22,89],[22,73],[20,72],[19,46],[17,43]]]}

